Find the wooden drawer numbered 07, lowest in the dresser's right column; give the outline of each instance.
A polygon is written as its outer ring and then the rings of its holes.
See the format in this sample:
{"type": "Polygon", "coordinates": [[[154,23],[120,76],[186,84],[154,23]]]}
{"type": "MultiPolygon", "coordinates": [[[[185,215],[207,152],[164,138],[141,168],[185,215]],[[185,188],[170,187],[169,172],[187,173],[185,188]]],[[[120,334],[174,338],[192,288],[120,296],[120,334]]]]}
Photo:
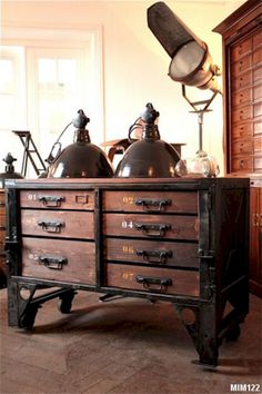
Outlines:
{"type": "Polygon", "coordinates": [[[105,278],[105,286],[199,296],[199,273],[192,270],[107,264],[105,278]]]}

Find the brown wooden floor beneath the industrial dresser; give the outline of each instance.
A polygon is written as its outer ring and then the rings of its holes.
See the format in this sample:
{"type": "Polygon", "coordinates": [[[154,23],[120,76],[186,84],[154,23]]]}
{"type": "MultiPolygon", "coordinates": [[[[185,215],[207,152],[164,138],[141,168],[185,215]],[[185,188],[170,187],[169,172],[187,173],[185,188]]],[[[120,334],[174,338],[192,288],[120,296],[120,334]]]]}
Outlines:
{"type": "Polygon", "coordinates": [[[225,394],[231,384],[262,393],[262,299],[250,304],[238,342],[223,342],[219,366],[204,368],[171,304],[79,292],[70,315],[50,301],[27,332],[8,327],[0,290],[0,393],[225,394]]]}

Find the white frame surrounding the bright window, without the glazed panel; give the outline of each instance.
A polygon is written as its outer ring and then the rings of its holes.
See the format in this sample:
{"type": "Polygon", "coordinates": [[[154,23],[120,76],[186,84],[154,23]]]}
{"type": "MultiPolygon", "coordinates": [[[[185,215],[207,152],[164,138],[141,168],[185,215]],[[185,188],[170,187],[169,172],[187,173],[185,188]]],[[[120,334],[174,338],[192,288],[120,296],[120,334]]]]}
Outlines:
{"type": "MultiPolygon", "coordinates": [[[[103,59],[102,59],[102,27],[88,26],[84,28],[16,28],[4,27],[1,37],[2,46],[21,46],[24,48],[27,71],[33,72],[31,68],[32,53],[42,49],[81,49],[84,51],[87,79],[83,82],[83,91],[87,95],[87,107],[82,108],[87,116],[91,118],[89,125],[91,141],[101,144],[105,139],[104,128],[104,92],[103,92],[103,59]]],[[[36,82],[36,78],[31,81],[36,82]]],[[[36,142],[39,134],[36,129],[36,117],[33,117],[33,98],[30,92],[33,87],[27,81],[28,95],[23,102],[27,107],[26,121],[27,128],[32,132],[36,142]]],[[[73,111],[73,109],[72,109],[73,111]]],[[[72,114],[73,116],[75,114],[72,114]]],[[[71,119],[69,119],[70,121],[71,119]]],[[[66,125],[61,125],[61,131],[66,125]]],[[[22,129],[24,129],[24,124],[22,129]]],[[[51,147],[50,147],[51,149],[51,147]]]]}

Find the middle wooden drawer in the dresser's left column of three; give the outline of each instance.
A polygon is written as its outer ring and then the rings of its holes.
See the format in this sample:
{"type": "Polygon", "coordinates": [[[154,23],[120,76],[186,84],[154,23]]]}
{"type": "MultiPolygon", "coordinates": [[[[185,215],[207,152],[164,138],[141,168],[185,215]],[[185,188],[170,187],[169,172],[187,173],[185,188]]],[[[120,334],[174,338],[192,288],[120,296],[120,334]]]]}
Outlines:
{"type": "Polygon", "coordinates": [[[22,235],[93,239],[93,213],[21,209],[22,235]]]}

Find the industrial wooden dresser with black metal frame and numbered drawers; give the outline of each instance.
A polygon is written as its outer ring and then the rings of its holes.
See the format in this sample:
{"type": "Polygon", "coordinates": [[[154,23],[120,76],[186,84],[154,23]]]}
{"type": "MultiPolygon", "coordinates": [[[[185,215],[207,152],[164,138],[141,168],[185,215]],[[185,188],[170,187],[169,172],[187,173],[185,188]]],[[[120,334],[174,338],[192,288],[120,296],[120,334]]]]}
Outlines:
{"type": "Polygon", "coordinates": [[[165,301],[216,365],[249,311],[248,178],[11,180],[6,244],[10,326],[78,289],[165,301]]]}

